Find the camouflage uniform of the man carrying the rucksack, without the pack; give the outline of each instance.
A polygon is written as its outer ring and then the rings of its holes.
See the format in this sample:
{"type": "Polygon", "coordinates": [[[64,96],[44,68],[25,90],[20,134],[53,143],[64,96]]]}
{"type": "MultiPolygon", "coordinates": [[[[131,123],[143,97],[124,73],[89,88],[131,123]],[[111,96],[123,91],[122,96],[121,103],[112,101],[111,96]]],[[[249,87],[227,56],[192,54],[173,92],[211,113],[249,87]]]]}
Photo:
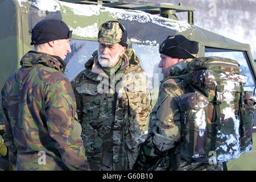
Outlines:
{"type": "Polygon", "coordinates": [[[133,169],[223,170],[222,163],[200,163],[180,153],[181,122],[179,105],[175,98],[184,94],[184,90],[183,81],[178,78],[161,81],[158,101],[150,114],[147,139],[139,146],[133,169]]]}

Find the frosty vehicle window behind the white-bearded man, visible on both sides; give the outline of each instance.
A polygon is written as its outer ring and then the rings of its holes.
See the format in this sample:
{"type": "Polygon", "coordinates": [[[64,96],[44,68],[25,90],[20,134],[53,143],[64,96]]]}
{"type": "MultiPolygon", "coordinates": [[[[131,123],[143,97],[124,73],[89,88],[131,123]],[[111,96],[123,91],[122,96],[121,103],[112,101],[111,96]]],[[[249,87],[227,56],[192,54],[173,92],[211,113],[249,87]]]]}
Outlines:
{"type": "MultiPolygon", "coordinates": [[[[98,42],[72,39],[70,45],[72,52],[65,59],[67,63],[65,75],[72,81],[77,74],[85,69],[84,64],[90,59],[92,53],[98,49],[98,42]]],[[[163,78],[158,68],[160,61],[159,45],[152,46],[133,43],[132,47],[136,55],[141,59],[142,68],[147,76],[148,86],[150,89],[158,89],[159,81],[163,78]]]]}

